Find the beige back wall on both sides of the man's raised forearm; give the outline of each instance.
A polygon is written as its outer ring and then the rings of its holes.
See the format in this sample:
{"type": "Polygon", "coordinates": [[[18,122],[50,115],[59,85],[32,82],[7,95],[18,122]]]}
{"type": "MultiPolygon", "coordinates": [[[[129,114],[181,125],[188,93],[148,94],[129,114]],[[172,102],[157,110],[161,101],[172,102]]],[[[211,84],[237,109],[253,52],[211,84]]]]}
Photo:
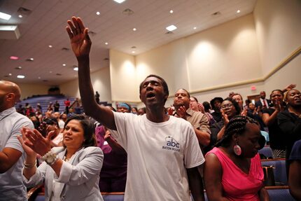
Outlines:
{"type": "MultiPolygon", "coordinates": [[[[111,102],[111,82],[110,82],[110,69],[109,67],[100,69],[91,74],[91,81],[94,92],[99,92],[100,101],[111,102]]],[[[78,89],[78,79],[69,81],[59,85],[61,93],[69,97],[80,97],[78,89]]]]}

